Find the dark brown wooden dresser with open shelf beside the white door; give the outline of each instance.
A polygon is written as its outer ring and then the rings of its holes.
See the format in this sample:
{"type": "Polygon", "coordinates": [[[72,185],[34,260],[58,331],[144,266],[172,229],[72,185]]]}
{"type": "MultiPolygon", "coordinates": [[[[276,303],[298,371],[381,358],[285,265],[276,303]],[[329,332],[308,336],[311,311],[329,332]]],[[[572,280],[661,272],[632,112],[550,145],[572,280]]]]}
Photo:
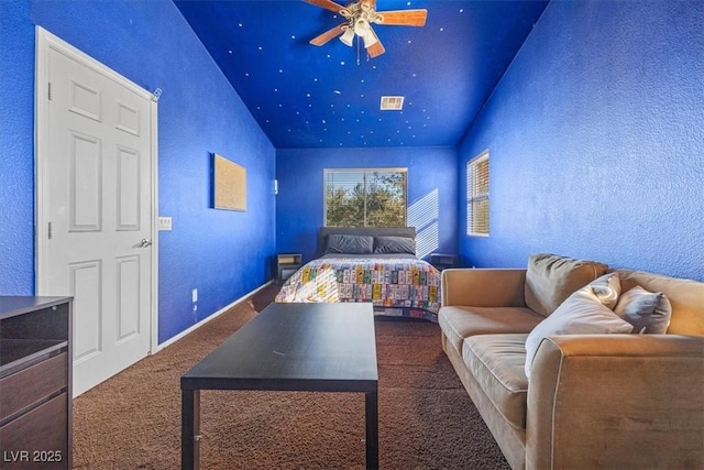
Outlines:
{"type": "Polygon", "coordinates": [[[0,296],[0,468],[72,468],[70,297],[0,296]]]}

